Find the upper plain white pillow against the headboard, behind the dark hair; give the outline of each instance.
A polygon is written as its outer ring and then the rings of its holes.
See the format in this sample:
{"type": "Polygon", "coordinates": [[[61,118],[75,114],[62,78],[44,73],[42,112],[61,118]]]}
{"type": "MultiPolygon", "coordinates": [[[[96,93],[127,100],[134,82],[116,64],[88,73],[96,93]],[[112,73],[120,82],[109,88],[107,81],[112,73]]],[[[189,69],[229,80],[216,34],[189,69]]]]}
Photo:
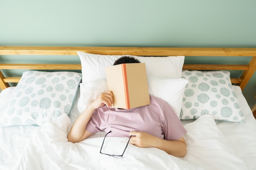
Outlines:
{"type": "MultiPolygon", "coordinates": [[[[77,51],[82,65],[82,82],[93,81],[106,77],[105,67],[124,55],[99,55],[77,51]]],[[[132,56],[132,55],[128,55],[132,56]]],[[[184,64],[184,56],[141,57],[132,56],[141,63],[146,63],[147,75],[165,78],[180,78],[184,64]]]]}

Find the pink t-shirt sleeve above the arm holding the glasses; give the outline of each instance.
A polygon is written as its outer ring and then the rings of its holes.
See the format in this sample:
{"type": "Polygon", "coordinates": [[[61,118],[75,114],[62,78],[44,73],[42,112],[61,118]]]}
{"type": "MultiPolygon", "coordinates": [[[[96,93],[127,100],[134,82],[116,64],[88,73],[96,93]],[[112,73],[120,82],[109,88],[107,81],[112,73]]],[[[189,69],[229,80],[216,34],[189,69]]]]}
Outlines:
{"type": "Polygon", "coordinates": [[[166,140],[179,140],[185,133],[186,129],[177,117],[171,106],[163,103],[163,134],[166,140]]]}

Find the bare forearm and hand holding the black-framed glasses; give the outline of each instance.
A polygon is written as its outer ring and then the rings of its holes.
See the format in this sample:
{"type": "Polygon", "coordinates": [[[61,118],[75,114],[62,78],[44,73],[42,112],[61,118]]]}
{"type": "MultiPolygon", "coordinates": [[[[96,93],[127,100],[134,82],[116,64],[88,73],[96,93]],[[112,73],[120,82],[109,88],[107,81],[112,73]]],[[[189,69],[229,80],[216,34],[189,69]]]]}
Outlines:
{"type": "Polygon", "coordinates": [[[150,135],[146,132],[131,131],[129,135],[133,136],[130,139],[130,143],[135,146],[139,146],[141,148],[158,148],[175,157],[184,157],[186,155],[186,141],[184,137],[181,137],[177,141],[168,141],[150,135]]]}

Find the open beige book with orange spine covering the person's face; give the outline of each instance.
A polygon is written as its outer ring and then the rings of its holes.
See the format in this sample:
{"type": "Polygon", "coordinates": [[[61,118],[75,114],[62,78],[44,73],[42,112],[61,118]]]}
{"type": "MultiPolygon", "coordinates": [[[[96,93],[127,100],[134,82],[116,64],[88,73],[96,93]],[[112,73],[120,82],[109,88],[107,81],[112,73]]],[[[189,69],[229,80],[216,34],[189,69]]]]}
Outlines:
{"type": "Polygon", "coordinates": [[[112,108],[130,109],[150,104],[145,63],[106,67],[108,91],[113,93],[112,108]]]}

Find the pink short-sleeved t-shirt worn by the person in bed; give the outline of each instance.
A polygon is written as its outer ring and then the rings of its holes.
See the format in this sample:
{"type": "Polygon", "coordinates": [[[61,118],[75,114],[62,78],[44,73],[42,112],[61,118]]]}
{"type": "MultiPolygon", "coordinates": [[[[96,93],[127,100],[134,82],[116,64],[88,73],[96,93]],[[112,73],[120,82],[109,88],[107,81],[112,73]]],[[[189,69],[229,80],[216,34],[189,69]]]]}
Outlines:
{"type": "Polygon", "coordinates": [[[108,136],[129,137],[129,132],[143,131],[166,140],[178,140],[186,130],[173,109],[162,99],[150,96],[150,104],[132,109],[94,110],[86,127],[91,133],[112,131],[108,136]]]}

